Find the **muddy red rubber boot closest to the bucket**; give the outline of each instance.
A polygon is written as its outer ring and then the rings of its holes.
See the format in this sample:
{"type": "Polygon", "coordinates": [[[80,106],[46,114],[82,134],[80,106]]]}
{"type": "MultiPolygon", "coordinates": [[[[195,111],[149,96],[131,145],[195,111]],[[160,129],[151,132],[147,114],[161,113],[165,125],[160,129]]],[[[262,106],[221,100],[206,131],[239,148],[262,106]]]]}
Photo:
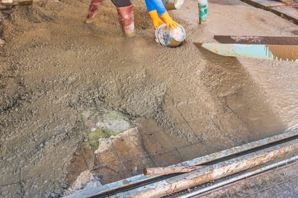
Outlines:
{"type": "Polygon", "coordinates": [[[133,5],[117,7],[121,30],[126,37],[135,36],[135,19],[133,5]]]}

